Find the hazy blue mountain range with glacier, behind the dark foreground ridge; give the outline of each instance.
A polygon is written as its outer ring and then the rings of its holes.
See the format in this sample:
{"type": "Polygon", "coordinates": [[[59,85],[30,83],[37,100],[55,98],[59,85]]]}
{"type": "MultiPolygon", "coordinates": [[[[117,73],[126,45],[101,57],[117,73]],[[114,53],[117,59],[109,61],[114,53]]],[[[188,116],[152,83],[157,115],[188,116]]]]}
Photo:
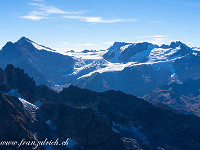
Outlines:
{"type": "Polygon", "coordinates": [[[107,50],[59,53],[22,37],[0,51],[0,67],[7,64],[24,69],[36,85],[56,91],[69,85],[96,92],[120,90],[199,116],[200,86],[193,83],[200,77],[200,49],[180,41],[161,46],[115,42],[107,50]]]}

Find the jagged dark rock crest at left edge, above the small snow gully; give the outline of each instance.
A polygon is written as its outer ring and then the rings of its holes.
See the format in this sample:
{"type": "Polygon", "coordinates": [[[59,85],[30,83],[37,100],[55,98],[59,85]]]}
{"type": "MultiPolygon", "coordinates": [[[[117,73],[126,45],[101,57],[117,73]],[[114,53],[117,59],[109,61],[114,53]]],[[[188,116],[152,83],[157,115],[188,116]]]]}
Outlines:
{"type": "Polygon", "coordinates": [[[30,102],[54,99],[56,96],[56,92],[47,86],[36,86],[33,78],[25,74],[23,69],[14,68],[13,65],[7,65],[5,71],[0,70],[0,79],[1,91],[8,92],[11,89],[18,89],[18,92],[30,102]]]}

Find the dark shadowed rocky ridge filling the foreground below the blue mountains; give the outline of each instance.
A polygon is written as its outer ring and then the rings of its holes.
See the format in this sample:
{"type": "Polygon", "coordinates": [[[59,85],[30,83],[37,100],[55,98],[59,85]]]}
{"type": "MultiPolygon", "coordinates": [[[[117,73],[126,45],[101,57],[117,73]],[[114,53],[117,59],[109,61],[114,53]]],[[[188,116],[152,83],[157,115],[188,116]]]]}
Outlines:
{"type": "MultiPolygon", "coordinates": [[[[78,150],[198,150],[200,148],[198,117],[151,104],[121,91],[97,93],[70,86],[60,93],[55,93],[46,87],[36,86],[31,78],[23,75],[22,70],[11,66],[8,68],[10,71],[2,71],[4,76],[11,77],[9,75],[11,73],[16,78],[13,80],[7,78],[9,80],[5,80],[4,86],[7,89],[13,87],[19,89],[21,96],[27,101],[32,93],[33,98],[29,102],[34,103],[37,100],[42,102],[42,106],[36,111],[36,121],[31,122],[26,109],[20,101],[17,101],[18,99],[8,95],[2,96],[3,101],[0,103],[2,116],[8,115],[8,118],[18,116],[14,117],[18,119],[17,123],[14,123],[16,119],[4,118],[1,120],[1,125],[11,122],[11,128],[16,125],[21,136],[32,139],[31,135],[36,133],[38,140],[44,140],[45,137],[52,140],[60,138],[60,141],[71,141],[71,145],[67,146],[73,145],[73,148],[78,150]],[[27,80],[28,85],[24,80],[20,80],[21,77],[27,80]],[[13,84],[6,84],[9,81],[13,81],[13,84]],[[27,88],[21,86],[23,82],[27,88]],[[19,87],[14,83],[19,84],[19,87]],[[6,114],[7,112],[10,113],[6,114]]],[[[0,132],[4,134],[8,132],[11,137],[17,134],[17,131],[10,133],[5,128],[0,128],[0,132]]],[[[66,149],[63,146],[52,146],[52,148],[66,149]]]]}

